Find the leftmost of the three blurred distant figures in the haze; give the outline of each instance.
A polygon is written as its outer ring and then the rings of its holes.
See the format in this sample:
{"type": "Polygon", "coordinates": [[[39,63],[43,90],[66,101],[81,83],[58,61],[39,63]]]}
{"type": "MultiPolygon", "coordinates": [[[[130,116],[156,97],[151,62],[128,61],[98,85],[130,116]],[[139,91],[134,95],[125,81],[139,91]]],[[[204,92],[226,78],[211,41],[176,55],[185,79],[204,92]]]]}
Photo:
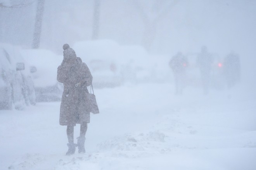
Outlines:
{"type": "Polygon", "coordinates": [[[181,52],[173,56],[169,62],[175,78],[175,94],[182,94],[183,88],[185,87],[187,65],[187,58],[181,52]]]}

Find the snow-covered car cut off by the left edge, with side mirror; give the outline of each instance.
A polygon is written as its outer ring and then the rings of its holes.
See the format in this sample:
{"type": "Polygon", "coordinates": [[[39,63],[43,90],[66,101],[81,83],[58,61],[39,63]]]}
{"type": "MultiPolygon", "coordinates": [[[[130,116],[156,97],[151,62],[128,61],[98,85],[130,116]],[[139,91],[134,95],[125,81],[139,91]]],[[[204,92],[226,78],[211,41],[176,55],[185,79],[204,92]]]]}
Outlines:
{"type": "Polygon", "coordinates": [[[22,110],[36,103],[29,65],[19,51],[18,47],[0,43],[0,109],[22,110]]]}

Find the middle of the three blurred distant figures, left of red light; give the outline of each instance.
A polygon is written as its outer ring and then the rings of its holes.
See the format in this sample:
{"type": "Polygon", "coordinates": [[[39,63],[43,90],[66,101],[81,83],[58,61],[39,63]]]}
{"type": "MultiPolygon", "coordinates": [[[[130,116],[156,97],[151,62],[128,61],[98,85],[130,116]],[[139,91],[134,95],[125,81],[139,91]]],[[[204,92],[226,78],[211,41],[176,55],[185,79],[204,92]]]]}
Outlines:
{"type": "Polygon", "coordinates": [[[212,64],[212,55],[208,53],[208,49],[206,46],[202,46],[201,53],[199,53],[197,56],[197,65],[199,66],[202,88],[205,95],[209,93],[209,83],[211,80],[212,64]]]}

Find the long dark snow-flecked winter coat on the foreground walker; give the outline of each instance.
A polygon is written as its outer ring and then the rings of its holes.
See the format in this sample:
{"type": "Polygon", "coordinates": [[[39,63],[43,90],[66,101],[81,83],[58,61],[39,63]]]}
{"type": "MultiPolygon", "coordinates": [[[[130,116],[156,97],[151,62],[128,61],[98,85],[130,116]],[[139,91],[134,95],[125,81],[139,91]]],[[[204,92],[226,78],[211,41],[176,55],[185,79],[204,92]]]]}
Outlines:
{"type": "Polygon", "coordinates": [[[60,125],[75,126],[82,122],[90,122],[88,90],[92,83],[92,75],[81,58],[73,64],[62,62],[58,67],[57,80],[64,84],[61,100],[60,125]]]}

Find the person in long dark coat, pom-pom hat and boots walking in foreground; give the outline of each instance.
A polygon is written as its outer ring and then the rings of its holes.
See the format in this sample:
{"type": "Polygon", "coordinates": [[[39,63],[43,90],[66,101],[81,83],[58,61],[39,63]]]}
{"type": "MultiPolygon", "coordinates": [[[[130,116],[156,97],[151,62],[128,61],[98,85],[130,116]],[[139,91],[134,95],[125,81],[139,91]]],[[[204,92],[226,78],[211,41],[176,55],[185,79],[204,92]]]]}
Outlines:
{"type": "Polygon", "coordinates": [[[74,154],[76,146],[79,153],[85,153],[85,134],[90,122],[87,86],[92,83],[92,75],[88,66],[68,44],[63,45],[63,61],[57,69],[57,80],[64,84],[61,99],[60,119],[62,126],[67,126],[68,151],[74,154]],[[80,136],[74,144],[74,126],[80,124],[80,136]]]}

